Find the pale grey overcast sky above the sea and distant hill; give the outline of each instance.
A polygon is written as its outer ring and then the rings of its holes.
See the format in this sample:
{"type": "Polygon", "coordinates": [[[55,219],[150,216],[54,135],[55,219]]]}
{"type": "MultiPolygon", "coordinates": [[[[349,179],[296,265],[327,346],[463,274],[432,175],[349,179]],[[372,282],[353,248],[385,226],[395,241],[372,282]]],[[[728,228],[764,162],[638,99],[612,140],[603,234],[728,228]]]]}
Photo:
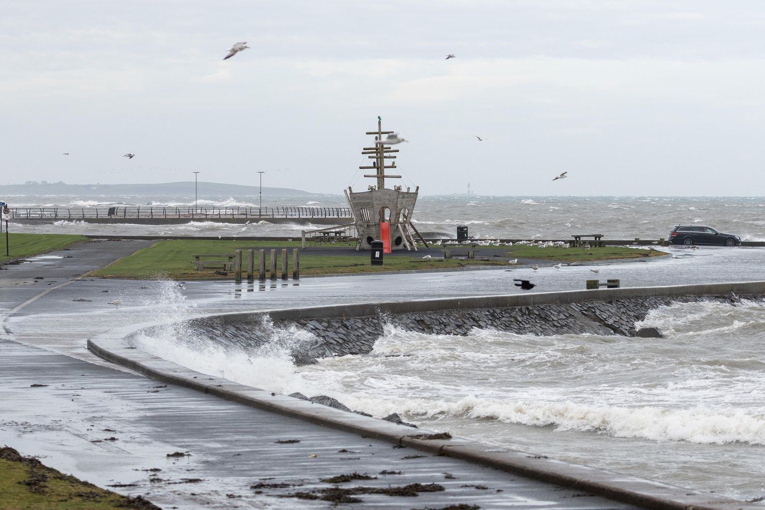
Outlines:
{"type": "Polygon", "coordinates": [[[361,190],[381,115],[426,194],[763,195],[763,43],[757,1],[5,0],[0,182],[361,190]]]}

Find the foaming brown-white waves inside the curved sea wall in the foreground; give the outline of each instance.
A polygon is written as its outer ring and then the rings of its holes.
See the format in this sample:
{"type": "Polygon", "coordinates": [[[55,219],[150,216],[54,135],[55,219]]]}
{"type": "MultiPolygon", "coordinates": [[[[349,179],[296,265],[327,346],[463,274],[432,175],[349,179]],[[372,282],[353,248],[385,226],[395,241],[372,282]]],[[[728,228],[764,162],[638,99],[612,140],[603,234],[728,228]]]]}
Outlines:
{"type": "Polygon", "coordinates": [[[716,492],[765,495],[765,303],[676,304],[643,326],[663,339],[389,327],[369,355],[296,367],[311,334],[275,330],[249,352],[138,339],[165,359],[289,394],[330,395],[376,417],[716,492]]]}

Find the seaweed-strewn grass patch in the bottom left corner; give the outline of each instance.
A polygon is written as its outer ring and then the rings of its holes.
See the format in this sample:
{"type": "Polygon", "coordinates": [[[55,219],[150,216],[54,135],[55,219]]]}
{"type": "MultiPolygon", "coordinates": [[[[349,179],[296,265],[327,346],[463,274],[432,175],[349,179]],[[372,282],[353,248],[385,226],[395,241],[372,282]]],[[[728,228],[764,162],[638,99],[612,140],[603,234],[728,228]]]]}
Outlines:
{"type": "Polygon", "coordinates": [[[130,498],[0,447],[0,510],[159,510],[141,496],[130,498]]]}

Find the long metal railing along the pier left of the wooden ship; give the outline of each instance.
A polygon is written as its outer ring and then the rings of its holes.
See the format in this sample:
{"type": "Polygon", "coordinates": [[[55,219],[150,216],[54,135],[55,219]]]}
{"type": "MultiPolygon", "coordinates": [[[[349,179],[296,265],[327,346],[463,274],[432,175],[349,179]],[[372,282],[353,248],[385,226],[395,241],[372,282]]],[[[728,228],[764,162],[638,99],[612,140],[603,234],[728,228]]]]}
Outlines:
{"type": "Polygon", "coordinates": [[[13,207],[12,219],[350,218],[348,207],[13,207]]]}

